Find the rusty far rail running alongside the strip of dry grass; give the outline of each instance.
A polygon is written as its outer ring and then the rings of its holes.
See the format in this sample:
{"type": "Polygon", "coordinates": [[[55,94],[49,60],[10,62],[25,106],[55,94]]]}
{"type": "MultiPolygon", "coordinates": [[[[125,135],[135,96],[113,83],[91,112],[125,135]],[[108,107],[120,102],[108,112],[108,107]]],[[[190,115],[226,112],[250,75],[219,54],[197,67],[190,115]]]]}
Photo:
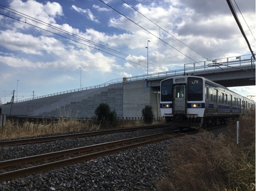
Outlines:
{"type": "Polygon", "coordinates": [[[19,140],[13,140],[13,141],[0,141],[0,146],[3,147],[3,146],[13,146],[13,145],[26,145],[26,144],[32,144],[32,143],[56,141],[56,140],[61,140],[66,138],[81,138],[81,137],[89,137],[89,136],[96,136],[96,135],[102,135],[102,134],[137,131],[141,129],[154,129],[154,128],[160,128],[160,127],[165,127],[165,125],[130,127],[130,128],[93,131],[93,132],[77,133],[77,134],[65,134],[65,135],[58,135],[58,136],[51,136],[51,137],[28,138],[28,139],[19,139],[19,140]]]}

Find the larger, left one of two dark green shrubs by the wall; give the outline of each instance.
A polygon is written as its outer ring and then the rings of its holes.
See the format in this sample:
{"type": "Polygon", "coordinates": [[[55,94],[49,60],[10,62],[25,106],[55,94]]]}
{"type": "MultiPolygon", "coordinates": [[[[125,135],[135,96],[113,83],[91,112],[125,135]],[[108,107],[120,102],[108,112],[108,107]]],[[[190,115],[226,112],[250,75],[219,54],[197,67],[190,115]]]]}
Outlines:
{"type": "Polygon", "coordinates": [[[101,124],[115,124],[117,122],[116,111],[111,111],[107,103],[100,103],[94,113],[101,124]]]}

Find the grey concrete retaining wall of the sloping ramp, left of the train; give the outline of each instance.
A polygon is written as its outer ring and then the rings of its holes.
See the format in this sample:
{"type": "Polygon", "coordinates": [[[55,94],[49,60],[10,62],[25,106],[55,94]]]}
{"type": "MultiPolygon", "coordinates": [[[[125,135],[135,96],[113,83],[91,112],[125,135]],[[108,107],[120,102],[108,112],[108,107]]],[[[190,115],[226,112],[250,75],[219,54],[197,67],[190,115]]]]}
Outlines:
{"type": "MultiPolygon", "coordinates": [[[[93,117],[100,103],[107,103],[118,117],[142,117],[146,105],[160,112],[160,92],[147,87],[147,81],[124,81],[106,87],[70,92],[2,106],[3,115],[37,117],[93,117]],[[157,104],[158,103],[158,104],[157,104]],[[158,108],[158,109],[157,109],[158,108]]],[[[158,117],[161,117],[159,113],[158,117]]]]}

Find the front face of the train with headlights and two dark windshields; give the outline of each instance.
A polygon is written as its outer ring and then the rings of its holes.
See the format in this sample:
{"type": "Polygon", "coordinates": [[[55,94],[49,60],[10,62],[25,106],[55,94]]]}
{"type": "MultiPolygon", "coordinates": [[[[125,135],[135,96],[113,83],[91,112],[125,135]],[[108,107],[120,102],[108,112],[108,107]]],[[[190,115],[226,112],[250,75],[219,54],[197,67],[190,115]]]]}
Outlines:
{"type": "Polygon", "coordinates": [[[161,81],[161,114],[165,125],[202,127],[205,111],[205,79],[178,76],[161,81]]]}

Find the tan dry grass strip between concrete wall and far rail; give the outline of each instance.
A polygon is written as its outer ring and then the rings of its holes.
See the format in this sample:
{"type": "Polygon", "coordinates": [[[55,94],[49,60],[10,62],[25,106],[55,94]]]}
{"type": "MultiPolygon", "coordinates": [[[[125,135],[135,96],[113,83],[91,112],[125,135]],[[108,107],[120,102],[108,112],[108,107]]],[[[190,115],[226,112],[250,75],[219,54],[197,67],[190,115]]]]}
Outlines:
{"type": "MultiPolygon", "coordinates": [[[[153,124],[163,124],[164,121],[154,122],[153,124]]],[[[145,125],[142,120],[118,120],[115,128],[136,127],[145,125]]],[[[95,119],[84,120],[81,122],[77,119],[64,120],[60,119],[55,123],[49,122],[35,124],[26,122],[17,126],[13,121],[7,120],[5,127],[0,129],[0,139],[12,139],[22,137],[33,137],[44,134],[68,133],[73,131],[97,131],[101,129],[113,128],[111,125],[98,124],[95,119]]]]}

